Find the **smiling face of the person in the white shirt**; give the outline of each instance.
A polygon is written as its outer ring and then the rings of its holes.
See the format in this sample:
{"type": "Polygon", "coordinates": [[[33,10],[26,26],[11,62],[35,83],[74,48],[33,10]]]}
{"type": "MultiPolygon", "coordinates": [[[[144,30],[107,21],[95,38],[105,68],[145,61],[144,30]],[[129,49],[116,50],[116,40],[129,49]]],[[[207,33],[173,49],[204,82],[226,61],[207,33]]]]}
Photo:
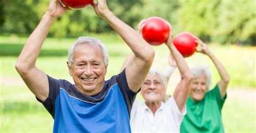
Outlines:
{"type": "Polygon", "coordinates": [[[164,83],[159,78],[158,74],[155,74],[154,76],[147,75],[147,78],[142,85],[141,94],[146,102],[159,102],[164,99],[164,83]]]}

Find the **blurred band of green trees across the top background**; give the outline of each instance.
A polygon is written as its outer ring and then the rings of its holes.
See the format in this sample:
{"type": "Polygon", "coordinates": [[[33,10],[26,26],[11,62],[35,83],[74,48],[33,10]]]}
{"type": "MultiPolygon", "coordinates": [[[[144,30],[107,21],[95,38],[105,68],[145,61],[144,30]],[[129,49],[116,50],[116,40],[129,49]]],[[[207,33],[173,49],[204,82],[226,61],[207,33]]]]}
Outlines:
{"type": "MultiPolygon", "coordinates": [[[[37,26],[49,1],[0,1],[0,34],[30,34],[37,26]]],[[[136,28],[142,19],[164,18],[173,33],[192,32],[204,41],[222,44],[256,45],[255,0],[111,0],[109,9],[136,28]]],[[[87,33],[110,33],[112,28],[92,7],[71,10],[56,20],[49,36],[77,37],[87,33]]]]}

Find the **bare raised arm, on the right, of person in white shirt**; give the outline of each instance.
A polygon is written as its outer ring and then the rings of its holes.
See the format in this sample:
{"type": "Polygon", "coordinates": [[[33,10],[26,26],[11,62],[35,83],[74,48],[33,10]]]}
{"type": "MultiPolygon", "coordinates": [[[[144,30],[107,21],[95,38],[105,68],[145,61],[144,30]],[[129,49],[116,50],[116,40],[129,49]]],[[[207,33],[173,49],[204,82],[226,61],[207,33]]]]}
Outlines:
{"type": "Polygon", "coordinates": [[[180,111],[185,107],[187,97],[190,93],[190,85],[193,74],[186,64],[183,56],[179,53],[176,47],[172,44],[172,34],[170,32],[169,39],[166,42],[167,47],[172,53],[174,60],[176,61],[177,67],[180,72],[181,80],[175,88],[173,98],[176,101],[180,111]]]}

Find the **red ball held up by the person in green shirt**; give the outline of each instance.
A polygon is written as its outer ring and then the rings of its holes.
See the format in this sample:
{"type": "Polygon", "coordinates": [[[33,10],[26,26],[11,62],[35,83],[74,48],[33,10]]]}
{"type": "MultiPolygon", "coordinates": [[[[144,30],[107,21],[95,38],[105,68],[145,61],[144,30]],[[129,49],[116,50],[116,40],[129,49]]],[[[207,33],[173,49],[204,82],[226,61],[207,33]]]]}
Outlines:
{"type": "Polygon", "coordinates": [[[190,57],[196,52],[197,43],[196,37],[189,32],[179,33],[174,39],[173,44],[183,57],[190,57]]]}

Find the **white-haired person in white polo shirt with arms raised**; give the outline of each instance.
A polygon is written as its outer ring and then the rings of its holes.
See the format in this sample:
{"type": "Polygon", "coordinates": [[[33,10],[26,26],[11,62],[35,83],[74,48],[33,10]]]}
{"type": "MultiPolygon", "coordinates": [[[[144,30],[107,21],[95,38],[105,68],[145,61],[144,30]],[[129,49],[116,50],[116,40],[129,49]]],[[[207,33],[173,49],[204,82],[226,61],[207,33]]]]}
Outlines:
{"type": "MultiPolygon", "coordinates": [[[[138,25],[139,31],[142,29],[143,23],[144,21],[138,25]]],[[[167,77],[159,70],[150,70],[141,88],[141,94],[145,102],[140,102],[136,99],[133,103],[130,122],[132,132],[180,131],[181,121],[186,114],[185,103],[190,92],[192,73],[182,55],[172,44],[172,31],[170,31],[166,45],[176,61],[181,75],[181,81],[177,85],[173,96],[164,103],[162,101],[165,97],[167,78],[169,79],[171,74],[169,72],[172,69],[167,69],[167,73],[169,73],[167,77]]],[[[132,61],[133,58],[134,54],[132,53],[126,62],[132,61]]],[[[170,62],[172,61],[169,61],[169,65],[170,62]]]]}

